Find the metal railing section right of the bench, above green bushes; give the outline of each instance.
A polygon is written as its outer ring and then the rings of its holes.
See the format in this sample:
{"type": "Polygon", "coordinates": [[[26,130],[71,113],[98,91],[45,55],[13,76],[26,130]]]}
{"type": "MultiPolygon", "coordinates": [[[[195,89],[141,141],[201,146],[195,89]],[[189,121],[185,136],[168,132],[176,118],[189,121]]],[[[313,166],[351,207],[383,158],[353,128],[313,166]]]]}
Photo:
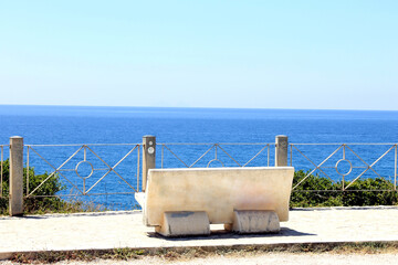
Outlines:
{"type": "Polygon", "coordinates": [[[290,144],[290,165],[307,169],[293,186],[294,191],[301,191],[310,176],[339,182],[342,191],[358,191],[353,187],[362,178],[379,178],[391,184],[388,190],[373,191],[397,190],[397,144],[290,144]]]}

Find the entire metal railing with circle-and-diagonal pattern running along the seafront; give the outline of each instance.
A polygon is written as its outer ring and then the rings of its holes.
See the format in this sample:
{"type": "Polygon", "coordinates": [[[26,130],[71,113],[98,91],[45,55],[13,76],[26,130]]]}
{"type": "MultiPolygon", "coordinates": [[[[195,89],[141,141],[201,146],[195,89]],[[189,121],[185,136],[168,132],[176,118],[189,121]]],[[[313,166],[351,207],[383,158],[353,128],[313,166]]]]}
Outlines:
{"type": "MultiPolygon", "coordinates": [[[[52,178],[59,178],[67,190],[55,197],[129,195],[128,200],[134,201],[130,194],[145,190],[143,180],[150,168],[273,167],[276,163],[305,171],[303,178],[295,180],[293,192],[366,191],[355,183],[367,178],[388,183],[384,186],[386,189],[373,191],[397,191],[398,144],[156,144],[155,137],[149,138],[149,141],[143,138],[143,144],[24,145],[19,156],[24,156],[24,167],[29,169],[23,197],[46,197],[39,191],[52,178]],[[39,183],[32,182],[33,173],[44,177],[39,183]],[[313,178],[326,178],[336,186],[325,190],[305,188],[313,178]]],[[[1,187],[7,149],[11,152],[12,148],[0,145],[1,187]]],[[[1,188],[0,198],[6,197],[1,188]]],[[[116,201],[125,202],[124,199],[116,201]]]]}

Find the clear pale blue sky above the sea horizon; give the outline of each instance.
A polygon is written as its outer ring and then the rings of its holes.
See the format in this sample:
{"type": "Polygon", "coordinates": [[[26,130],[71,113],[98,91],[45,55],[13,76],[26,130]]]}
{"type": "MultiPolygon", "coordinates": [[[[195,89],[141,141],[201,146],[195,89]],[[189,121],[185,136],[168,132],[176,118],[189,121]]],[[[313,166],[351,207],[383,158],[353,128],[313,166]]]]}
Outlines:
{"type": "Polygon", "coordinates": [[[0,0],[0,104],[398,109],[397,0],[0,0]]]}

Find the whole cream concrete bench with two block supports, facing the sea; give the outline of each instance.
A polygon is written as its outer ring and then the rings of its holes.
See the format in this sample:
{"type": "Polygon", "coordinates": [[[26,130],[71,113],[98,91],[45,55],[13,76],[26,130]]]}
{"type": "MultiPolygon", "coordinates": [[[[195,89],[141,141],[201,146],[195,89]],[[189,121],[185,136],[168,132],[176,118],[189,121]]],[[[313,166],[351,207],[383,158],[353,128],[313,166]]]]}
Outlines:
{"type": "Polygon", "coordinates": [[[292,167],[150,169],[136,200],[144,224],[166,236],[209,234],[210,224],[279,232],[289,220],[293,174],[292,167]]]}

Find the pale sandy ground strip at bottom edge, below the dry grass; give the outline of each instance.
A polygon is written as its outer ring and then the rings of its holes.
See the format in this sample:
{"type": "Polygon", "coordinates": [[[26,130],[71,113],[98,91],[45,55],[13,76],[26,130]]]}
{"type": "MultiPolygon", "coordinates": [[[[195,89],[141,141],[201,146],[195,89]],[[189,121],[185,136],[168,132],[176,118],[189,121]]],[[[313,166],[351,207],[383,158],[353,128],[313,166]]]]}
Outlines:
{"type": "MultiPolygon", "coordinates": [[[[203,265],[203,264],[218,264],[218,265],[233,265],[233,264],[396,264],[398,254],[291,254],[291,253],[268,253],[259,255],[245,255],[245,256],[209,256],[206,258],[192,258],[188,261],[166,261],[158,257],[143,257],[140,259],[130,261],[115,261],[115,259],[96,259],[93,262],[61,262],[55,263],[57,265],[70,264],[174,264],[174,265],[203,265]]],[[[9,261],[0,262],[2,265],[13,264],[9,261]]]]}

